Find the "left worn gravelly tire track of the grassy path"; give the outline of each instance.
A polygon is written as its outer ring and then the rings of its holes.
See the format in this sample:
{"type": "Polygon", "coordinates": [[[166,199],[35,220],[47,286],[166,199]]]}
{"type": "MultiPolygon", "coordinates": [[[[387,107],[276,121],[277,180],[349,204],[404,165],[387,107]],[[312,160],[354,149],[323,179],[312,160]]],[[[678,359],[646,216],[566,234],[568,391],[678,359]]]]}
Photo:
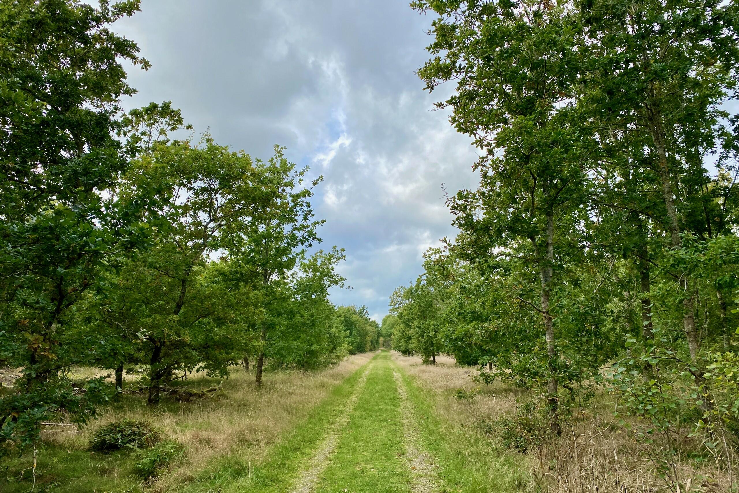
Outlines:
{"type": "Polygon", "coordinates": [[[336,451],[336,445],[338,444],[338,438],[341,437],[341,432],[344,431],[344,428],[349,424],[349,415],[359,400],[359,395],[361,395],[361,391],[364,389],[364,384],[367,382],[367,375],[372,371],[372,366],[374,364],[375,361],[369,361],[367,369],[364,370],[364,373],[359,377],[359,380],[354,387],[354,392],[352,392],[350,398],[347,399],[347,402],[344,404],[344,408],[341,409],[336,421],[330,426],[324,440],[319,444],[318,451],[308,461],[307,469],[302,472],[290,488],[290,493],[311,493],[316,488],[316,483],[318,483],[321,478],[321,473],[324,472],[326,466],[331,460],[331,455],[336,451]]]}

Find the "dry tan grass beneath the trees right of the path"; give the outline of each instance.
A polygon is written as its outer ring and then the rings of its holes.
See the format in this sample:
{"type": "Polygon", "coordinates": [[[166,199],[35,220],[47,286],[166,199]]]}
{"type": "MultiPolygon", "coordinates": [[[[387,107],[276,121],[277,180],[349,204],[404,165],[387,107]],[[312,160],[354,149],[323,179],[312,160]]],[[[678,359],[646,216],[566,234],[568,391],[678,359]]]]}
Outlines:
{"type": "MultiPolygon", "coordinates": [[[[478,433],[481,420],[494,423],[499,418],[514,416],[518,404],[531,397],[522,390],[503,384],[482,385],[472,380],[477,368],[457,367],[454,359],[437,357],[437,365],[421,364],[420,358],[401,356],[393,352],[393,359],[409,375],[415,377],[432,399],[446,421],[478,433]],[[454,398],[457,390],[478,392],[471,399],[454,398]]],[[[537,478],[539,488],[551,493],[583,492],[731,492],[730,476],[725,468],[713,461],[698,465],[694,461],[674,459],[670,476],[655,474],[655,458],[664,457],[669,449],[664,441],[644,443],[633,431],[619,424],[613,417],[610,396],[597,395],[594,404],[577,413],[562,427],[562,436],[545,441],[541,449],[522,455],[531,475],[537,478]],[[675,480],[675,473],[677,478],[675,480]],[[678,490],[679,485],[679,490],[678,490]]],[[[643,426],[636,421],[631,428],[643,426]]],[[[683,449],[696,449],[695,438],[684,430],[683,449]]],[[[511,452],[517,453],[517,452],[511,452]]],[[[734,478],[737,472],[734,473],[734,478]]],[[[735,479],[736,481],[736,479],[735,479]]]]}

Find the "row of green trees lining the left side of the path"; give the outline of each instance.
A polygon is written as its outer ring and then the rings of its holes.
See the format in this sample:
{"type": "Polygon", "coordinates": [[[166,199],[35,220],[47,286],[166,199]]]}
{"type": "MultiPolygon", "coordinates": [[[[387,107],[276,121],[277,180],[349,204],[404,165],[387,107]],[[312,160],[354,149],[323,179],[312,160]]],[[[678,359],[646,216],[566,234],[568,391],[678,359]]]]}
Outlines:
{"type": "Polygon", "coordinates": [[[321,367],[378,347],[367,310],[339,307],[338,248],[310,206],[321,181],[276,146],[267,161],[194,140],[171,103],[124,113],[109,30],[138,1],[0,4],[0,448],[32,446],[60,412],[85,421],[140,365],[149,404],[175,376],[236,363],[321,367]],[[176,136],[185,138],[174,138],[176,136]]]}

